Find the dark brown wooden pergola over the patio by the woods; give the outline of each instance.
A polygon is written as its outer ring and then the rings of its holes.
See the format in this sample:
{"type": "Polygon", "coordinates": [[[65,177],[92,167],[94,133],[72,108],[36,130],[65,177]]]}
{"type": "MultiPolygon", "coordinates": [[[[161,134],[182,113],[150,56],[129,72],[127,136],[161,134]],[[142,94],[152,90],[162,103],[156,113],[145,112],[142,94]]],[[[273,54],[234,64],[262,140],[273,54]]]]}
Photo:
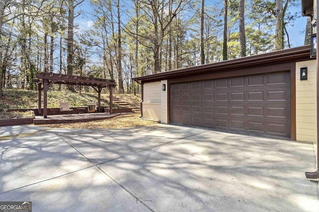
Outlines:
{"type": "Polygon", "coordinates": [[[87,76],[76,76],[52,72],[41,72],[32,79],[38,84],[38,113],[41,114],[41,90],[43,89],[43,115],[47,118],[47,90],[51,84],[70,84],[91,86],[98,92],[98,111],[101,111],[101,91],[108,88],[110,91],[110,114],[112,114],[113,87],[116,82],[113,79],[94,78],[87,76]]]}

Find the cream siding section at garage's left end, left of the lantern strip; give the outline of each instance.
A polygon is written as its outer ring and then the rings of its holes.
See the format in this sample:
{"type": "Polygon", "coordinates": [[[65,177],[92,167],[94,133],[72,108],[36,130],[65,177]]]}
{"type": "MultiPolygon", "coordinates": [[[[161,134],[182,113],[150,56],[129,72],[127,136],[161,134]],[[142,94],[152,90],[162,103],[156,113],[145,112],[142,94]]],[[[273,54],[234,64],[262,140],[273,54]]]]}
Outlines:
{"type": "Polygon", "coordinates": [[[143,118],[160,121],[161,87],[160,81],[143,85],[143,118]]]}

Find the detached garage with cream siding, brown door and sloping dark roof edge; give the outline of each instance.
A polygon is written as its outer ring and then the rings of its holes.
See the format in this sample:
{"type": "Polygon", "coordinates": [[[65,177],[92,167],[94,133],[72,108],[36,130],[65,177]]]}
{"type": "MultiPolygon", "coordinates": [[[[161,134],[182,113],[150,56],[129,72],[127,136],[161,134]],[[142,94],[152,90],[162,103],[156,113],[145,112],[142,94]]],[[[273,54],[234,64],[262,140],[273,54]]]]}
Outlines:
{"type": "Polygon", "coordinates": [[[141,117],[162,124],[317,142],[310,46],[134,78],[141,117]],[[307,70],[307,77],[301,78],[307,70]]]}

